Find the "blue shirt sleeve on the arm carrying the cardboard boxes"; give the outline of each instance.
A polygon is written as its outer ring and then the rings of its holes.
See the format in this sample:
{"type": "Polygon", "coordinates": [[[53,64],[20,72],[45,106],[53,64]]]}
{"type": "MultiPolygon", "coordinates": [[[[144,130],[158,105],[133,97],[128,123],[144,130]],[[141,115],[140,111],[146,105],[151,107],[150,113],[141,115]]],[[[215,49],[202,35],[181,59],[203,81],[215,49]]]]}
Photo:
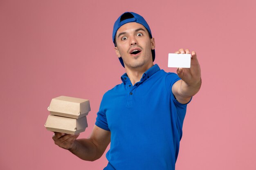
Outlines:
{"type": "MultiPolygon", "coordinates": [[[[105,93],[106,95],[106,93],[105,93]]],[[[108,128],[108,120],[106,117],[106,96],[103,95],[103,98],[101,100],[101,104],[99,106],[99,112],[97,113],[96,122],[95,125],[104,129],[110,131],[108,128]]]]}

